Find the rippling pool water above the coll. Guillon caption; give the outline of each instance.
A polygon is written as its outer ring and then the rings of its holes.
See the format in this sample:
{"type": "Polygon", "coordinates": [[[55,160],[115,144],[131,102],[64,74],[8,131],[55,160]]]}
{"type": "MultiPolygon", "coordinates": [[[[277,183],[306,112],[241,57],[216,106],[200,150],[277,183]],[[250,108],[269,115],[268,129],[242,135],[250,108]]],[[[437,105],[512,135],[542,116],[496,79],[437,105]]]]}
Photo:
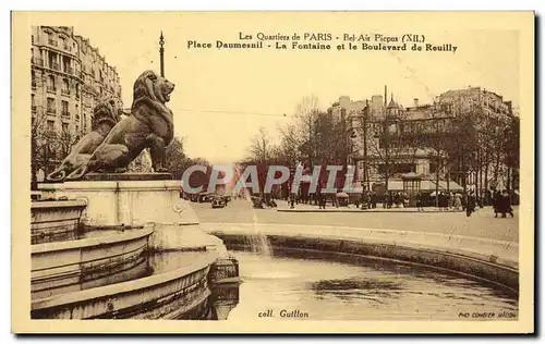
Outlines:
{"type": "MultiPolygon", "coordinates": [[[[483,281],[390,259],[281,249],[232,251],[240,302],[232,323],[292,321],[516,321],[518,295],[483,281]],[[470,316],[464,319],[460,312],[470,316]],[[480,317],[481,315],[493,317],[480,317]]],[[[504,325],[505,322],[498,325],[504,325]]],[[[281,329],[283,323],[278,323],[281,329]]]]}

